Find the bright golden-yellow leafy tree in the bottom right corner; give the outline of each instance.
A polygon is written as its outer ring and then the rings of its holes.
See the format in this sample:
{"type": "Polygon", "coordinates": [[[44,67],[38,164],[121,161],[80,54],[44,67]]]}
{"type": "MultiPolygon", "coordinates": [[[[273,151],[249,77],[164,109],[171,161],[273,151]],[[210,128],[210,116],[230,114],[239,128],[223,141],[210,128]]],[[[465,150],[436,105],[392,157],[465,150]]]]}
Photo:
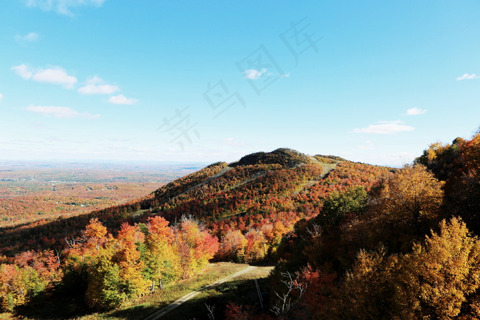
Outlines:
{"type": "MultiPolygon", "coordinates": [[[[453,319],[480,288],[479,239],[461,220],[444,220],[438,234],[402,258],[396,273],[397,301],[405,317],[453,319]]],[[[480,317],[478,306],[472,310],[472,317],[480,317]]]]}

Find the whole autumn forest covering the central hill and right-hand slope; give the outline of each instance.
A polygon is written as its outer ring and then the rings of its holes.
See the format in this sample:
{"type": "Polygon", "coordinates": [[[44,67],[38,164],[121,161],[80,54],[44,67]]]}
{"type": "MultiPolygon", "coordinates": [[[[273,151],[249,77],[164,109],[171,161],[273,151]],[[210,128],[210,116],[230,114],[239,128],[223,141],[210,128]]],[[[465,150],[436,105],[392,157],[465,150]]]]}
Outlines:
{"type": "Polygon", "coordinates": [[[252,153],[123,206],[3,228],[1,306],[21,313],[73,295],[71,314],[58,315],[73,317],[168,290],[211,259],[269,260],[269,309],[229,304],[221,317],[472,319],[479,141],[431,145],[402,169],[252,153]]]}

